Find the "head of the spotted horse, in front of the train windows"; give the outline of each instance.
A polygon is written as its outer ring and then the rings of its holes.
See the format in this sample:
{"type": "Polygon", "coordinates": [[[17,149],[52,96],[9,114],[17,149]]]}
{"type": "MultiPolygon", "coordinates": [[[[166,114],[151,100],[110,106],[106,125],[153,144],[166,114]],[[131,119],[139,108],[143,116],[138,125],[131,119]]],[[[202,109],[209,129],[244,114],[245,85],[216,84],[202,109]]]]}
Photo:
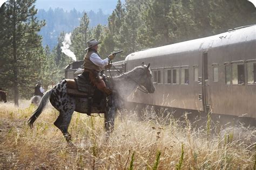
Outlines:
{"type": "Polygon", "coordinates": [[[146,88],[146,90],[149,93],[154,93],[154,88],[153,82],[152,82],[152,72],[150,70],[150,63],[149,65],[144,65],[144,62],[142,63],[142,72],[140,72],[141,78],[139,80],[139,85],[143,86],[146,88]]]}

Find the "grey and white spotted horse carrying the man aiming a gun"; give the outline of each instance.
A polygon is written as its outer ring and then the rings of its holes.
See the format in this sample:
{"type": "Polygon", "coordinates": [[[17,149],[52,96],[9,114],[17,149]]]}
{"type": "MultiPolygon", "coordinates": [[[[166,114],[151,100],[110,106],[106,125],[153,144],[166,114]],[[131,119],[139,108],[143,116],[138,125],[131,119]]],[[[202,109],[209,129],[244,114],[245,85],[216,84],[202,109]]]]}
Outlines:
{"type": "MultiPolygon", "coordinates": [[[[113,130],[114,115],[116,112],[115,101],[125,100],[125,98],[129,96],[138,86],[145,87],[147,93],[154,92],[155,88],[152,83],[152,74],[149,67],[150,64],[146,66],[144,63],[142,63],[141,66],[135,67],[130,72],[124,73],[118,77],[113,77],[113,79],[110,80],[110,82],[112,82],[111,84],[114,93],[113,95],[109,96],[109,101],[111,102],[107,107],[107,111],[104,112],[105,130],[107,132],[112,132],[113,130]]],[[[67,80],[64,79],[60,81],[55,87],[46,91],[41,99],[41,102],[39,103],[37,110],[33,112],[33,115],[29,118],[28,123],[30,128],[32,128],[33,123],[44,110],[49,98],[53,107],[59,111],[59,116],[54,124],[60,131],[62,131],[66,141],[70,143],[71,134],[68,132],[68,128],[73,111],[86,113],[86,108],[84,108],[84,111],[80,110],[79,108],[80,105],[87,105],[87,103],[86,100],[84,100],[84,103],[81,103],[80,100],[83,98],[69,95],[67,93],[66,84],[67,80]]],[[[100,112],[100,110],[97,109],[92,110],[92,113],[100,112]]]]}

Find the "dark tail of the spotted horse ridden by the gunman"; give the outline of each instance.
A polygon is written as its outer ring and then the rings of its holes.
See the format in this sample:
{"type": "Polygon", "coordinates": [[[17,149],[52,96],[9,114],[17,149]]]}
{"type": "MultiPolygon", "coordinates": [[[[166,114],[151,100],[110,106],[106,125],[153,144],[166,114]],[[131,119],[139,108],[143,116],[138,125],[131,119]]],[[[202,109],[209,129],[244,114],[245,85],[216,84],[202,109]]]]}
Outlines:
{"type": "Polygon", "coordinates": [[[46,93],[41,98],[38,108],[36,109],[36,111],[33,112],[33,115],[29,118],[28,124],[30,128],[33,128],[33,123],[36,121],[38,116],[43,112],[44,108],[46,107],[46,104],[48,103],[48,99],[51,93],[52,89],[46,91],[46,93]]]}

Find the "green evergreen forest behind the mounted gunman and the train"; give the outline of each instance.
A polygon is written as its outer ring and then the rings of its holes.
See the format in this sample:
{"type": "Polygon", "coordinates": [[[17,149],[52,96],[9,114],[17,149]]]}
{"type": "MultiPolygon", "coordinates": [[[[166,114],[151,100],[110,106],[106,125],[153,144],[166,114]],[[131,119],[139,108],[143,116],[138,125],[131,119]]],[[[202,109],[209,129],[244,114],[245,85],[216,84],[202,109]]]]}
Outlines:
{"type": "MultiPolygon", "coordinates": [[[[95,38],[102,41],[102,58],[123,49],[114,60],[119,61],[145,48],[256,24],[256,10],[247,0],[126,0],[125,4],[117,0],[106,25],[90,25],[89,14],[84,12],[78,26],[62,31],[57,45],[50,48],[43,46],[38,34],[49,23],[36,17],[35,0],[8,0],[0,12],[0,88],[8,91],[8,99],[15,105],[19,98],[32,97],[36,82],[49,89],[63,79],[64,68],[73,62],[61,48],[69,32],[69,49],[77,60],[84,58],[86,41],[95,38]]],[[[69,27],[69,23],[62,27],[69,27]]]]}

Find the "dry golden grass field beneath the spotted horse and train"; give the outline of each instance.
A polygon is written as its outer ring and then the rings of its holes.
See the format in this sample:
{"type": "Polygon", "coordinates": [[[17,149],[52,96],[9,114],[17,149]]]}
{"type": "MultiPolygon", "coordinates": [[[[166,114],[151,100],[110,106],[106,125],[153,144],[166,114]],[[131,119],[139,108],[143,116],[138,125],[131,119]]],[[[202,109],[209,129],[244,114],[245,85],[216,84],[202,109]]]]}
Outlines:
{"type": "Polygon", "coordinates": [[[58,112],[51,105],[30,130],[35,107],[19,103],[0,103],[0,169],[255,169],[256,129],[193,129],[188,121],[138,122],[126,113],[106,139],[102,116],[75,113],[69,146],[53,125],[58,112]]]}

